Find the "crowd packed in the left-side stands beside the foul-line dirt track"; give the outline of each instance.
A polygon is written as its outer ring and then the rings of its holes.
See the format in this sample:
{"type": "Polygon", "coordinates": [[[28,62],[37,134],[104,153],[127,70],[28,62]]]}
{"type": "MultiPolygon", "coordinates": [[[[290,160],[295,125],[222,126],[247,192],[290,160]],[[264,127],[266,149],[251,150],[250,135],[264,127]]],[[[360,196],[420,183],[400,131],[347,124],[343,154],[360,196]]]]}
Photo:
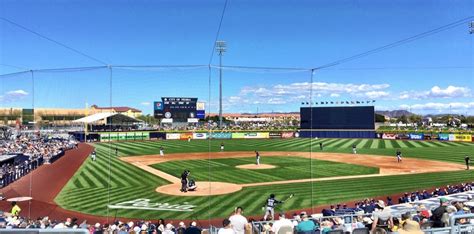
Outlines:
{"type": "Polygon", "coordinates": [[[45,162],[53,162],[64,151],[77,147],[70,138],[38,134],[12,134],[0,140],[0,155],[16,155],[22,160],[0,162],[0,186],[4,187],[45,162]]]}

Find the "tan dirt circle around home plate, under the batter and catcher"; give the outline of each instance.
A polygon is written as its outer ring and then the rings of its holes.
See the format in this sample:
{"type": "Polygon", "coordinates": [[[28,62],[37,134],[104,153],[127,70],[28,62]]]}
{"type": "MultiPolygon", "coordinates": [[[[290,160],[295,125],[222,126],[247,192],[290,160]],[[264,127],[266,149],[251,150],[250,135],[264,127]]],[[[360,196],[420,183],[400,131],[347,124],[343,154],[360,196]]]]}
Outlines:
{"type": "Polygon", "coordinates": [[[237,192],[242,189],[238,184],[223,183],[223,182],[196,182],[196,191],[188,191],[183,193],[180,191],[181,184],[168,184],[156,188],[155,191],[173,196],[212,196],[237,192]]]}

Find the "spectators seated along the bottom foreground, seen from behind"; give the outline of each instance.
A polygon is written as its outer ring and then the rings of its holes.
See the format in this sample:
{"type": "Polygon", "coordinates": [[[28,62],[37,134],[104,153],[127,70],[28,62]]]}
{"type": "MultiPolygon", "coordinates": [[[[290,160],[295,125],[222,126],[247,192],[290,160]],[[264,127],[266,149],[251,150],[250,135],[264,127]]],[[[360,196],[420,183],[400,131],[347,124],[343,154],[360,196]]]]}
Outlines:
{"type": "MultiPolygon", "coordinates": [[[[461,184],[455,186],[446,186],[443,189],[436,189],[429,193],[430,197],[440,196],[440,194],[451,194],[461,191],[472,190],[471,184],[461,184]],[[440,192],[442,191],[443,192],[440,192]]],[[[414,192],[416,194],[416,192],[414,192]]],[[[422,193],[420,193],[422,194],[422,193]]],[[[411,196],[402,196],[411,197],[411,196]]],[[[407,198],[408,199],[408,198],[407,198]]],[[[410,198],[411,199],[411,198],[410,198]]],[[[416,198],[414,198],[416,199],[416,198]]],[[[420,198],[418,198],[420,199],[420,198]]],[[[416,200],[412,200],[416,201],[416,200]]],[[[403,201],[411,202],[411,201],[403,201]]],[[[268,220],[268,222],[259,222],[258,225],[253,225],[253,219],[247,219],[244,216],[244,209],[237,207],[235,212],[229,218],[222,221],[222,227],[219,228],[218,234],[245,234],[254,231],[260,233],[295,233],[295,234],[313,234],[313,233],[331,233],[340,230],[341,233],[354,233],[356,230],[364,231],[360,233],[423,233],[425,228],[446,227],[449,225],[449,217],[459,214],[470,214],[472,212],[469,206],[463,202],[449,201],[445,197],[439,198],[439,206],[429,210],[424,205],[416,207],[416,213],[404,213],[400,217],[392,216],[388,202],[382,200],[374,201],[366,199],[358,202],[356,207],[347,208],[340,206],[339,209],[332,207],[329,213],[320,215],[309,215],[302,211],[297,214],[294,213],[292,217],[285,216],[280,213],[276,220],[268,220]],[[364,209],[365,207],[373,207],[364,209]],[[344,211],[341,211],[343,210],[344,211]],[[350,219],[343,215],[347,214],[348,210],[352,209],[350,219]],[[324,216],[326,215],[326,216],[324,216]]],[[[164,233],[164,234],[200,234],[206,232],[205,229],[200,228],[196,222],[190,222],[186,225],[184,222],[174,224],[172,221],[165,222],[159,219],[153,221],[130,221],[121,222],[115,221],[113,223],[89,223],[87,220],[79,221],[76,218],[67,218],[65,220],[51,220],[48,217],[40,217],[37,219],[22,218],[20,215],[21,208],[15,203],[12,203],[10,212],[5,212],[0,217],[0,228],[21,229],[87,229],[91,234],[102,233],[164,233]]],[[[327,211],[326,211],[327,212],[327,211]]],[[[260,220],[263,221],[263,220],[260,220]]],[[[474,225],[474,219],[458,219],[457,224],[471,224],[474,225]]],[[[207,231],[208,232],[208,231],[207,231]]]]}

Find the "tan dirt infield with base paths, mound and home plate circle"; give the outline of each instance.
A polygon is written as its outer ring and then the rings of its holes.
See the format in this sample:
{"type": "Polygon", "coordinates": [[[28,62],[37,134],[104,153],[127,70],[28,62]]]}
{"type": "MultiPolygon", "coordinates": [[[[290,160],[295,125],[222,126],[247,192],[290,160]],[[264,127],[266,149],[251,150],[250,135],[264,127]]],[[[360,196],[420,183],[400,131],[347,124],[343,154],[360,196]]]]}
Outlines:
{"type": "MultiPolygon", "coordinates": [[[[158,187],[157,192],[176,195],[176,196],[209,196],[209,195],[220,195],[239,191],[243,187],[254,187],[263,185],[274,185],[274,184],[288,184],[288,183],[304,183],[312,181],[327,181],[327,180],[338,180],[338,179],[350,179],[350,178],[366,178],[366,177],[377,177],[377,176],[388,176],[388,175],[402,175],[402,174],[418,174],[418,173],[429,173],[429,172],[440,172],[440,171],[456,171],[464,170],[464,166],[461,164],[441,162],[434,160],[415,159],[415,158],[404,158],[401,163],[398,163],[395,157],[388,156],[374,156],[365,154],[341,154],[341,153],[309,153],[309,152],[261,152],[262,161],[265,157],[303,157],[318,160],[326,160],[332,162],[341,162],[356,164],[369,167],[379,168],[379,174],[368,174],[368,175],[355,175],[355,176],[338,176],[329,178],[313,178],[313,179],[300,179],[300,180],[286,180],[286,181],[273,181],[273,182],[261,182],[251,184],[231,184],[231,183],[219,183],[219,182],[198,182],[198,191],[181,193],[179,188],[181,187],[180,179],[172,175],[164,173],[160,170],[150,167],[150,165],[163,163],[168,161],[176,160],[193,160],[193,159],[218,159],[218,158],[244,158],[253,157],[255,153],[243,151],[243,152],[216,152],[216,153],[185,153],[185,154],[169,154],[164,157],[159,155],[145,155],[145,156],[133,156],[133,157],[122,157],[121,160],[135,165],[145,171],[162,177],[172,184],[158,187]],[[200,185],[202,190],[199,191],[200,185]]],[[[268,165],[271,168],[272,165],[268,165]]],[[[238,168],[242,169],[258,169],[256,165],[241,165],[238,168]]]]}

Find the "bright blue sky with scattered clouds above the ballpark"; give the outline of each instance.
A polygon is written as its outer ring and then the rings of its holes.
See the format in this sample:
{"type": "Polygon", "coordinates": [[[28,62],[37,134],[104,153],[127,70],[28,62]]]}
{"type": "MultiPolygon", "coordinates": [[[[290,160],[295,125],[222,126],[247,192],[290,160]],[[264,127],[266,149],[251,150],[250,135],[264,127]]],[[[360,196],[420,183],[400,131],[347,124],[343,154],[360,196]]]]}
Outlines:
{"type": "MultiPolygon", "coordinates": [[[[0,15],[111,65],[209,63],[224,1],[0,1],[0,15]]],[[[224,65],[312,68],[474,15],[473,1],[229,0],[224,65]]],[[[225,112],[298,111],[302,101],[377,100],[376,109],[474,114],[467,23],[315,71],[224,69],[225,112]]],[[[100,66],[0,21],[0,73],[100,66]],[[12,67],[14,66],[14,67],[12,67]],[[21,67],[21,68],[16,68],[21,67]]],[[[214,56],[212,64],[218,64],[214,56]]],[[[0,78],[1,107],[132,106],[198,97],[217,112],[218,71],[114,68],[0,78]]],[[[209,109],[208,109],[209,110],[209,109]]]]}

